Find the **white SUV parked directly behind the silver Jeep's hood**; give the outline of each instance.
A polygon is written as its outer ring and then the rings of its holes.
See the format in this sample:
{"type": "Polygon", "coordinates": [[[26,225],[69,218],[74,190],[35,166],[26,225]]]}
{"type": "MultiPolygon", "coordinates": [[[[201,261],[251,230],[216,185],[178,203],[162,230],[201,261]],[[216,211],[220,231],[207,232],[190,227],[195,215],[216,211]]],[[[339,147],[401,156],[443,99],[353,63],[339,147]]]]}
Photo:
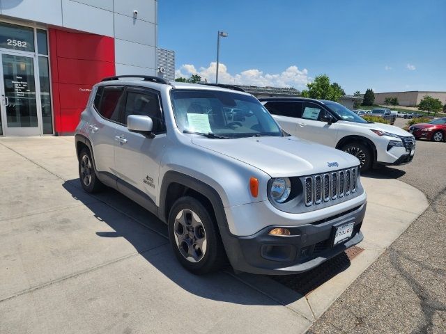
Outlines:
{"type": "Polygon", "coordinates": [[[361,169],[376,164],[408,164],[415,154],[415,138],[392,125],[367,122],[345,106],[302,97],[260,99],[289,134],[332,146],[355,155],[361,169]]]}

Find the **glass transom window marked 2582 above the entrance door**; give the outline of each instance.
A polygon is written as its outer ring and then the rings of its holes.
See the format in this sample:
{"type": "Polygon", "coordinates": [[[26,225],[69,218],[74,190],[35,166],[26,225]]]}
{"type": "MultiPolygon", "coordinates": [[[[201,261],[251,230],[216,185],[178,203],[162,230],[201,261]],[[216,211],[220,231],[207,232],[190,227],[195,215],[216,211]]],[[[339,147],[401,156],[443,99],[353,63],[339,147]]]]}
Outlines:
{"type": "Polygon", "coordinates": [[[0,22],[0,47],[34,51],[34,29],[0,22]]]}

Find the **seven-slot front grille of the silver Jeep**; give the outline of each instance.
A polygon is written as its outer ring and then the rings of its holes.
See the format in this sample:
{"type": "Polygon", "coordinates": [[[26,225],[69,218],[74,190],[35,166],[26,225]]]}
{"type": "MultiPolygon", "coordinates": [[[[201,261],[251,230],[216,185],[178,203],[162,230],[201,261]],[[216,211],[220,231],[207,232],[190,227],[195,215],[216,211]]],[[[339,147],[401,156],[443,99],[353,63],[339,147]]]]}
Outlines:
{"type": "Polygon", "coordinates": [[[305,205],[318,205],[355,193],[357,167],[337,172],[307,176],[301,179],[305,188],[305,205]]]}

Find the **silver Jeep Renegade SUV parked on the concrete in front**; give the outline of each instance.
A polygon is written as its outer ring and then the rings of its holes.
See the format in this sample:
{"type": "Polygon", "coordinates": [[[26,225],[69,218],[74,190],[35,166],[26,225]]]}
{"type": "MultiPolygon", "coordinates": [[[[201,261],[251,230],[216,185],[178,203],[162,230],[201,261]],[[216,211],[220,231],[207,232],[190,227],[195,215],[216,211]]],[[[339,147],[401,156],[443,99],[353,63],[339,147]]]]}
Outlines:
{"type": "Polygon", "coordinates": [[[363,238],[359,161],[289,136],[247,93],[107,78],[75,141],[85,191],[112,187],[167,223],[193,273],[227,260],[238,271],[298,273],[363,238]]]}

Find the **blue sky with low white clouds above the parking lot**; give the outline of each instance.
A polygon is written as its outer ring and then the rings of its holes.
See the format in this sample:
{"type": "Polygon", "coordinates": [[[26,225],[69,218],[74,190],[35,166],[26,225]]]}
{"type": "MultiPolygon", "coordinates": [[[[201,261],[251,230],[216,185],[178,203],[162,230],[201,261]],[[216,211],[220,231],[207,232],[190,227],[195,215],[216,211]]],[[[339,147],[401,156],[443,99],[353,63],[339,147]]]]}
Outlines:
{"type": "Polygon", "coordinates": [[[215,81],[220,30],[220,82],[446,90],[445,0],[158,0],[158,22],[185,76],[215,81]]]}

